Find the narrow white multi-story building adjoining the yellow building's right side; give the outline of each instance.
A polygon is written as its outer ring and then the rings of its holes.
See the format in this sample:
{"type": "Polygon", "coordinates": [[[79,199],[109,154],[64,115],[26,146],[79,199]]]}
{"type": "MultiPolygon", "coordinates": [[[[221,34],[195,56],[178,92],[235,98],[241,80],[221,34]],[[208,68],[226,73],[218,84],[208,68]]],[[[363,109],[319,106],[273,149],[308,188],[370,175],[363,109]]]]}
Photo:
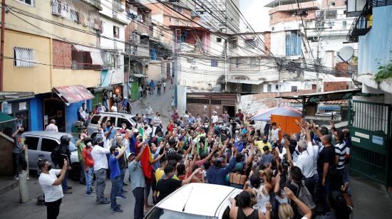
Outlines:
{"type": "MultiPolygon", "coordinates": [[[[128,96],[124,87],[124,53],[125,53],[125,25],[130,20],[125,14],[125,0],[100,1],[102,10],[102,33],[100,33],[100,48],[102,50],[103,69],[101,70],[99,87],[94,89],[95,96],[91,107],[95,107],[102,100],[102,90],[113,89],[113,94],[128,96]]],[[[110,107],[110,102],[107,107],[110,107]]],[[[110,108],[109,108],[110,109],[110,108]]]]}

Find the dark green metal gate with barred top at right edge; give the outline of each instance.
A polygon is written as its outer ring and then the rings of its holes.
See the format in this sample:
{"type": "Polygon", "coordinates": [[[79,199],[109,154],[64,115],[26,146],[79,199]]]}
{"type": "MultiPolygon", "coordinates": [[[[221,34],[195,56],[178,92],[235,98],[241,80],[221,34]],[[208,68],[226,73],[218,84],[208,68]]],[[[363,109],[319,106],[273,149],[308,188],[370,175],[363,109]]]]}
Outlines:
{"type": "Polygon", "coordinates": [[[350,170],[383,184],[391,183],[391,105],[351,100],[350,170]]]}

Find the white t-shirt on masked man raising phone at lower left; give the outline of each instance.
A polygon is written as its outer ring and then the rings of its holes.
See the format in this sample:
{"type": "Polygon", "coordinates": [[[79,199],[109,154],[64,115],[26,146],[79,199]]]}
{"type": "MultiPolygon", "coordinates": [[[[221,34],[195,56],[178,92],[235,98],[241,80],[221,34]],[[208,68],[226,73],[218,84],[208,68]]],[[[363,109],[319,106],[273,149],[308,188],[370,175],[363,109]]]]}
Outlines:
{"type": "Polygon", "coordinates": [[[63,198],[64,196],[61,184],[53,186],[60,171],[61,170],[59,169],[51,169],[49,173],[41,173],[39,175],[38,182],[41,185],[46,202],[58,201],[58,199],[63,198]]]}

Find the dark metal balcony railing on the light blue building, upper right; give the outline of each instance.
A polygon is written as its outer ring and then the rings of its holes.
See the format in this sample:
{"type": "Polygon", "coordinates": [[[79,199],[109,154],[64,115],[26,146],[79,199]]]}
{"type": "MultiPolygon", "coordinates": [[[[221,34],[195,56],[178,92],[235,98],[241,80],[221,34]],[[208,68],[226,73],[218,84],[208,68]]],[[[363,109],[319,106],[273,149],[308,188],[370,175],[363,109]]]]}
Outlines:
{"type": "Polygon", "coordinates": [[[373,24],[372,4],[366,2],[359,16],[354,19],[346,39],[350,42],[358,42],[359,36],[364,36],[371,30],[373,24]]]}

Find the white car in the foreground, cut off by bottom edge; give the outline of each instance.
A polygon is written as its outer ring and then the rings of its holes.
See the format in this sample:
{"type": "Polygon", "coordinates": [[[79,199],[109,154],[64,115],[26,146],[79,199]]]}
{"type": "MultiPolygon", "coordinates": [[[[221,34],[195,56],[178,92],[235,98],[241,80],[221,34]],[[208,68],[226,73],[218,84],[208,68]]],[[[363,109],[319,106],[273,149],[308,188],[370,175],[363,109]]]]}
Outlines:
{"type": "Polygon", "coordinates": [[[145,219],[229,219],[229,198],[235,198],[241,192],[229,186],[190,183],[160,201],[145,215],[145,219]]]}

